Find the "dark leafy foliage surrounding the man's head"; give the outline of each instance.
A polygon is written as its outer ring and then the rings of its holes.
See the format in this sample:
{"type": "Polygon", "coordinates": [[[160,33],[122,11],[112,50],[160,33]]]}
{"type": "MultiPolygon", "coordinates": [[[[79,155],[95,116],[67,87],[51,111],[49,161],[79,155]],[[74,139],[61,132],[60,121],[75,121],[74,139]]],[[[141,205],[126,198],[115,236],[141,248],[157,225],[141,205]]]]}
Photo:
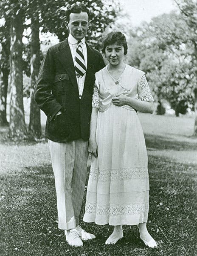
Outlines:
{"type": "Polygon", "coordinates": [[[96,49],[100,49],[98,44],[102,32],[114,20],[120,10],[117,1],[102,0],[56,0],[50,6],[45,5],[42,15],[42,32],[51,32],[57,35],[60,41],[68,37],[68,30],[65,27],[65,12],[74,3],[82,3],[90,9],[90,26],[86,40],[96,49]]]}

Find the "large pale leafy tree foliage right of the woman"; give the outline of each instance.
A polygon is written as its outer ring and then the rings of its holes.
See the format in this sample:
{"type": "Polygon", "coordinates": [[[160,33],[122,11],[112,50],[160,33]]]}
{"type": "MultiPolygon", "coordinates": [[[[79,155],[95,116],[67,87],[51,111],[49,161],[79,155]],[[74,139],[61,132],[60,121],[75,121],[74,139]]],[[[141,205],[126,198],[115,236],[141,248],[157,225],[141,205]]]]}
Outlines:
{"type": "Polygon", "coordinates": [[[143,23],[132,40],[130,63],[144,70],[156,99],[167,99],[178,113],[194,109],[196,56],[193,31],[174,12],[143,23]]]}

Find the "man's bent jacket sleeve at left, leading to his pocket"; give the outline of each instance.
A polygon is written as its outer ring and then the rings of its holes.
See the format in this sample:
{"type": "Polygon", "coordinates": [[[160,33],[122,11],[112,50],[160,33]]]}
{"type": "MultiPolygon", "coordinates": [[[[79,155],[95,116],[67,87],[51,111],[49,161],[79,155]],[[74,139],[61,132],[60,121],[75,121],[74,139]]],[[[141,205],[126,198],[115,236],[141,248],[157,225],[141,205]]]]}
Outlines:
{"type": "Polygon", "coordinates": [[[34,90],[34,99],[38,107],[45,112],[49,119],[53,119],[56,113],[62,108],[51,93],[54,77],[54,57],[51,48],[49,48],[40,66],[38,80],[34,90]]]}

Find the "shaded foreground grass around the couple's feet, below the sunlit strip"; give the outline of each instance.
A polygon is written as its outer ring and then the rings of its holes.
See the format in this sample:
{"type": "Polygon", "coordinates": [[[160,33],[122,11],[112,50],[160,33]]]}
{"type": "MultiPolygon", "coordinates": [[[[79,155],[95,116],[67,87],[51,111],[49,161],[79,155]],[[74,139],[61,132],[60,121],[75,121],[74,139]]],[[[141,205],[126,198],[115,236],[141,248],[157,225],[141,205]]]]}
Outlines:
{"type": "MultiPolygon", "coordinates": [[[[85,224],[97,239],[84,247],[70,247],[58,229],[56,194],[51,165],[28,167],[23,172],[1,177],[1,255],[194,255],[197,237],[195,219],[195,167],[177,165],[149,157],[149,231],[158,249],[146,248],[136,226],[124,226],[124,238],[114,246],[104,244],[113,230],[109,225],[85,224]],[[161,232],[162,230],[162,232],[161,232]],[[165,234],[165,236],[164,236],[165,234]],[[166,239],[167,238],[167,239],[166,239]]],[[[81,212],[84,211],[85,196],[81,212]]]]}

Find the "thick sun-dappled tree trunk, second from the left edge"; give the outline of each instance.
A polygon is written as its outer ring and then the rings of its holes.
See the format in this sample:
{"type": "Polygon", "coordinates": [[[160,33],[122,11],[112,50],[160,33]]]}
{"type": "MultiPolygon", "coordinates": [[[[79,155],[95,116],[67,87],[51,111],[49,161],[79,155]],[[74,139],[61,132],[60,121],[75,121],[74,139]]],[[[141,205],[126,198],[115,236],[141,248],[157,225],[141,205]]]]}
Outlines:
{"type": "Polygon", "coordinates": [[[27,128],[23,107],[23,15],[19,11],[11,20],[10,44],[10,122],[9,136],[26,138],[27,128]]]}

